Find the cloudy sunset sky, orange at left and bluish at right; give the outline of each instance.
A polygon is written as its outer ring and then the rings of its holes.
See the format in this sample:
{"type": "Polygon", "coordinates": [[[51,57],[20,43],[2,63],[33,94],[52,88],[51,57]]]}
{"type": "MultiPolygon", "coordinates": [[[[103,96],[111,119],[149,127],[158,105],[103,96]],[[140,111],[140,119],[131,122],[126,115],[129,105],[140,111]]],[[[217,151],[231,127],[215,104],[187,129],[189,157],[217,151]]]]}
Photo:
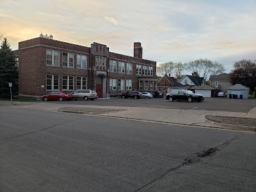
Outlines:
{"type": "Polygon", "coordinates": [[[256,0],[0,0],[0,35],[12,50],[43,34],[143,59],[187,63],[256,60],[256,0]]]}

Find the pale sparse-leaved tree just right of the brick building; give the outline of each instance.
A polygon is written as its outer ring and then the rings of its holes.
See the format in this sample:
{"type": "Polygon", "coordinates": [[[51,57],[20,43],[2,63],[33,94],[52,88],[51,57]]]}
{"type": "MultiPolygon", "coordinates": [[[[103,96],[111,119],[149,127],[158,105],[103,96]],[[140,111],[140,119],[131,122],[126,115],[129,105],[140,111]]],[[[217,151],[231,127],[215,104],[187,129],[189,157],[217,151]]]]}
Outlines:
{"type": "Polygon", "coordinates": [[[181,62],[174,63],[173,61],[170,61],[167,63],[161,63],[159,67],[157,67],[157,74],[159,74],[159,76],[164,76],[164,74],[167,74],[169,76],[179,78],[184,69],[184,64],[181,62]]]}

